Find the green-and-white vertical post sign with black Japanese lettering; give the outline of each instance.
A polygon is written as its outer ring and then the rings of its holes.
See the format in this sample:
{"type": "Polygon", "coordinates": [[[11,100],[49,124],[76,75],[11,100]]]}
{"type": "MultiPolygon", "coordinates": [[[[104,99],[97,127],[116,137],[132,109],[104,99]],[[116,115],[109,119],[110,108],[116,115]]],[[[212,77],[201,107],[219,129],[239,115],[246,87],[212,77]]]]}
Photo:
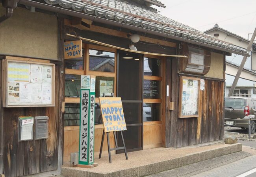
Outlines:
{"type": "Polygon", "coordinates": [[[94,162],[95,76],[81,76],[80,137],[78,164],[94,162]]]}

